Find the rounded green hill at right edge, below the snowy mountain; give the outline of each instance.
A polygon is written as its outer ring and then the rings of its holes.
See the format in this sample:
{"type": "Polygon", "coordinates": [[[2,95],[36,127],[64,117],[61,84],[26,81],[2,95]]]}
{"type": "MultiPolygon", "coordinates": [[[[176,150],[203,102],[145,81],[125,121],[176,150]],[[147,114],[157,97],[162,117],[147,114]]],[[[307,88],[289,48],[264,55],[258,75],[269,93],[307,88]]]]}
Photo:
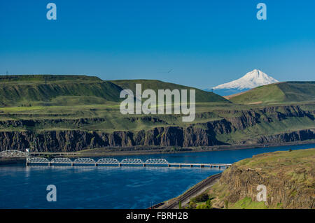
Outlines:
{"type": "Polygon", "coordinates": [[[290,103],[315,101],[315,82],[279,82],[230,97],[233,103],[290,103]]]}

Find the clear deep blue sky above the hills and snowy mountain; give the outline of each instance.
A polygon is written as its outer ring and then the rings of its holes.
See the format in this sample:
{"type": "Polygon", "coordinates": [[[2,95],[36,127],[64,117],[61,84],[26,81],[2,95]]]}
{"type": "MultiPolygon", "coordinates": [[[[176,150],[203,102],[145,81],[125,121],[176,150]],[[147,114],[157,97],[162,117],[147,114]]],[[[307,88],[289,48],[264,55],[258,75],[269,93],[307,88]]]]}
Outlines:
{"type": "Polygon", "coordinates": [[[0,73],[158,79],[199,88],[253,69],[315,80],[315,1],[1,1],[0,73]],[[57,5],[57,20],[46,5],[57,5]],[[257,20],[256,5],[267,5],[257,20]]]}

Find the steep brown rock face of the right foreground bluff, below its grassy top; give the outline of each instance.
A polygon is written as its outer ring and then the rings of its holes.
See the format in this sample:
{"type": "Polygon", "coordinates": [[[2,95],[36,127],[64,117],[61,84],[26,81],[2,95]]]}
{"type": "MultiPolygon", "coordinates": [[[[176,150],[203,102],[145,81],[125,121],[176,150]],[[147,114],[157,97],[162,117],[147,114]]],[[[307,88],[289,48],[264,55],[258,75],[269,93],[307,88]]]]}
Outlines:
{"type": "Polygon", "coordinates": [[[226,197],[229,203],[250,197],[256,201],[257,186],[265,185],[267,188],[267,206],[276,208],[281,204],[282,208],[314,208],[314,197],[307,189],[301,189],[301,185],[295,181],[264,176],[259,171],[242,169],[232,166],[231,170],[221,177],[221,183],[228,185],[230,195],[226,197]]]}

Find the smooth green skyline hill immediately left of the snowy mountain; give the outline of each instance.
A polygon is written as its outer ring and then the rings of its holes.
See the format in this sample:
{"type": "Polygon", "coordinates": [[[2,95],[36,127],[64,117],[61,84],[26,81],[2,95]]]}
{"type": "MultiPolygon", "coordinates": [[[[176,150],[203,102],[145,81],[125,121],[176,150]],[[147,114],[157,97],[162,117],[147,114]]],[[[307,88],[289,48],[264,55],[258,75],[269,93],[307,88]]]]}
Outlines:
{"type": "Polygon", "coordinates": [[[132,89],[133,92],[136,90],[136,84],[141,84],[142,90],[153,89],[155,92],[158,92],[158,89],[195,89],[196,102],[230,103],[230,101],[227,99],[224,99],[222,96],[212,92],[205,92],[194,87],[176,85],[170,82],[162,82],[160,80],[112,80],[111,82],[122,87],[123,89],[132,89]]]}

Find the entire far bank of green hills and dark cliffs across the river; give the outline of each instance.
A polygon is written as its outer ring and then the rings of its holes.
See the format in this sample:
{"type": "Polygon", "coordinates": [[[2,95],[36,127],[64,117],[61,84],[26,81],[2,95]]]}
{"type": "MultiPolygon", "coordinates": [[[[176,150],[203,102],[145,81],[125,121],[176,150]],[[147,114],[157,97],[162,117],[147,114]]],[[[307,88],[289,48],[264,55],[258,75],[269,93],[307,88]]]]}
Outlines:
{"type": "MultiPolygon", "coordinates": [[[[193,122],[183,122],[184,114],[123,115],[120,92],[123,89],[135,92],[136,83],[142,84],[142,90],[190,89],[158,80],[111,82],[79,75],[0,76],[0,141],[3,142],[0,150],[20,146],[15,134],[22,138],[27,134],[29,143],[36,143],[33,139],[37,134],[43,134],[47,139],[37,141],[43,143],[38,147],[55,151],[59,148],[70,150],[71,147],[62,142],[69,141],[72,134],[76,134],[73,136],[76,150],[109,145],[207,147],[314,140],[315,101],[276,106],[246,105],[195,89],[198,103],[193,122]],[[116,135],[118,131],[122,135],[116,135]],[[49,135],[54,133],[54,136],[49,135]],[[65,141],[59,141],[58,134],[65,136],[65,141]],[[57,138],[51,140],[54,137],[57,138]],[[81,141],[85,137],[87,141],[81,141]],[[52,141],[55,142],[53,145],[50,144],[52,141]]],[[[309,99],[307,93],[314,89],[313,83],[304,83],[302,87],[297,87],[299,83],[294,84],[293,87],[267,85],[253,89],[251,93],[258,92],[257,97],[265,101],[271,98],[273,101],[268,103],[279,103],[286,97],[309,99]]],[[[249,99],[255,101],[254,96],[251,97],[249,99]]]]}

